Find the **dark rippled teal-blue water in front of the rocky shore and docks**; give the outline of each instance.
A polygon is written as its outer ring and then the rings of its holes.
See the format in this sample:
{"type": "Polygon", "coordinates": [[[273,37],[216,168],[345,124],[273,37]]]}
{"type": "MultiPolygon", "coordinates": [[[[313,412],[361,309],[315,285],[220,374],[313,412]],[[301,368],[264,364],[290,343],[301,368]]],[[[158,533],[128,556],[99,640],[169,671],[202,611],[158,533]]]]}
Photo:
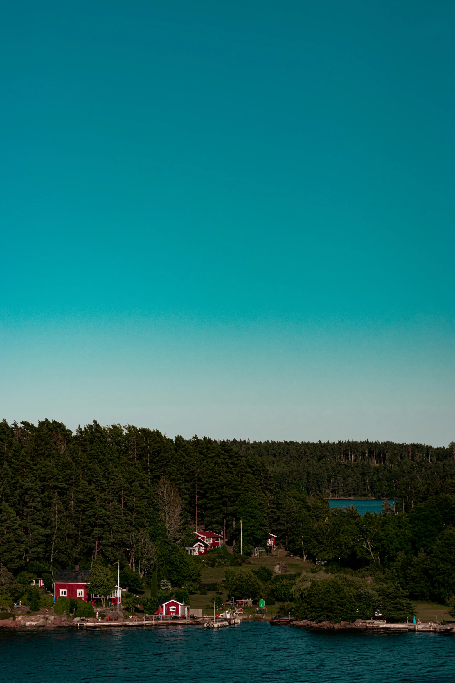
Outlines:
{"type": "Polygon", "coordinates": [[[413,683],[455,680],[455,637],[308,632],[245,623],[219,630],[0,632],[0,679],[413,683]]]}

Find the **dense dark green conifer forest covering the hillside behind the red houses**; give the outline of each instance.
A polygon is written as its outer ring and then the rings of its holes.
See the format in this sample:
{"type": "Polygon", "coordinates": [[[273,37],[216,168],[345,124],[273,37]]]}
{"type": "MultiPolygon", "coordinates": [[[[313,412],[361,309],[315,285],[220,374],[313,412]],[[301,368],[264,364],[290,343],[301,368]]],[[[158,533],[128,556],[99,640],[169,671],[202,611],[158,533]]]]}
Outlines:
{"type": "Polygon", "coordinates": [[[0,458],[8,575],[119,559],[130,583],[155,576],[196,591],[201,563],[184,547],[197,525],[226,536],[226,564],[242,565],[271,532],[343,581],[368,570],[411,598],[454,601],[455,443],[188,440],[96,421],[73,433],[58,421],[3,420],[0,458]],[[397,503],[361,516],[327,502],[351,496],[397,503]]]}

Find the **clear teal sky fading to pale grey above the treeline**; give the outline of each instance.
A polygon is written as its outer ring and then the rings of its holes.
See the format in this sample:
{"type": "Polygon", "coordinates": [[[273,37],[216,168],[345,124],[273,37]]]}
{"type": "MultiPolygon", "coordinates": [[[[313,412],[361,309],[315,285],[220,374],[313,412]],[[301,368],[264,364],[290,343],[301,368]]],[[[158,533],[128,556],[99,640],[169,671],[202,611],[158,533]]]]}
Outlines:
{"type": "Polygon", "coordinates": [[[455,5],[0,11],[0,417],[455,440],[455,5]]]}

